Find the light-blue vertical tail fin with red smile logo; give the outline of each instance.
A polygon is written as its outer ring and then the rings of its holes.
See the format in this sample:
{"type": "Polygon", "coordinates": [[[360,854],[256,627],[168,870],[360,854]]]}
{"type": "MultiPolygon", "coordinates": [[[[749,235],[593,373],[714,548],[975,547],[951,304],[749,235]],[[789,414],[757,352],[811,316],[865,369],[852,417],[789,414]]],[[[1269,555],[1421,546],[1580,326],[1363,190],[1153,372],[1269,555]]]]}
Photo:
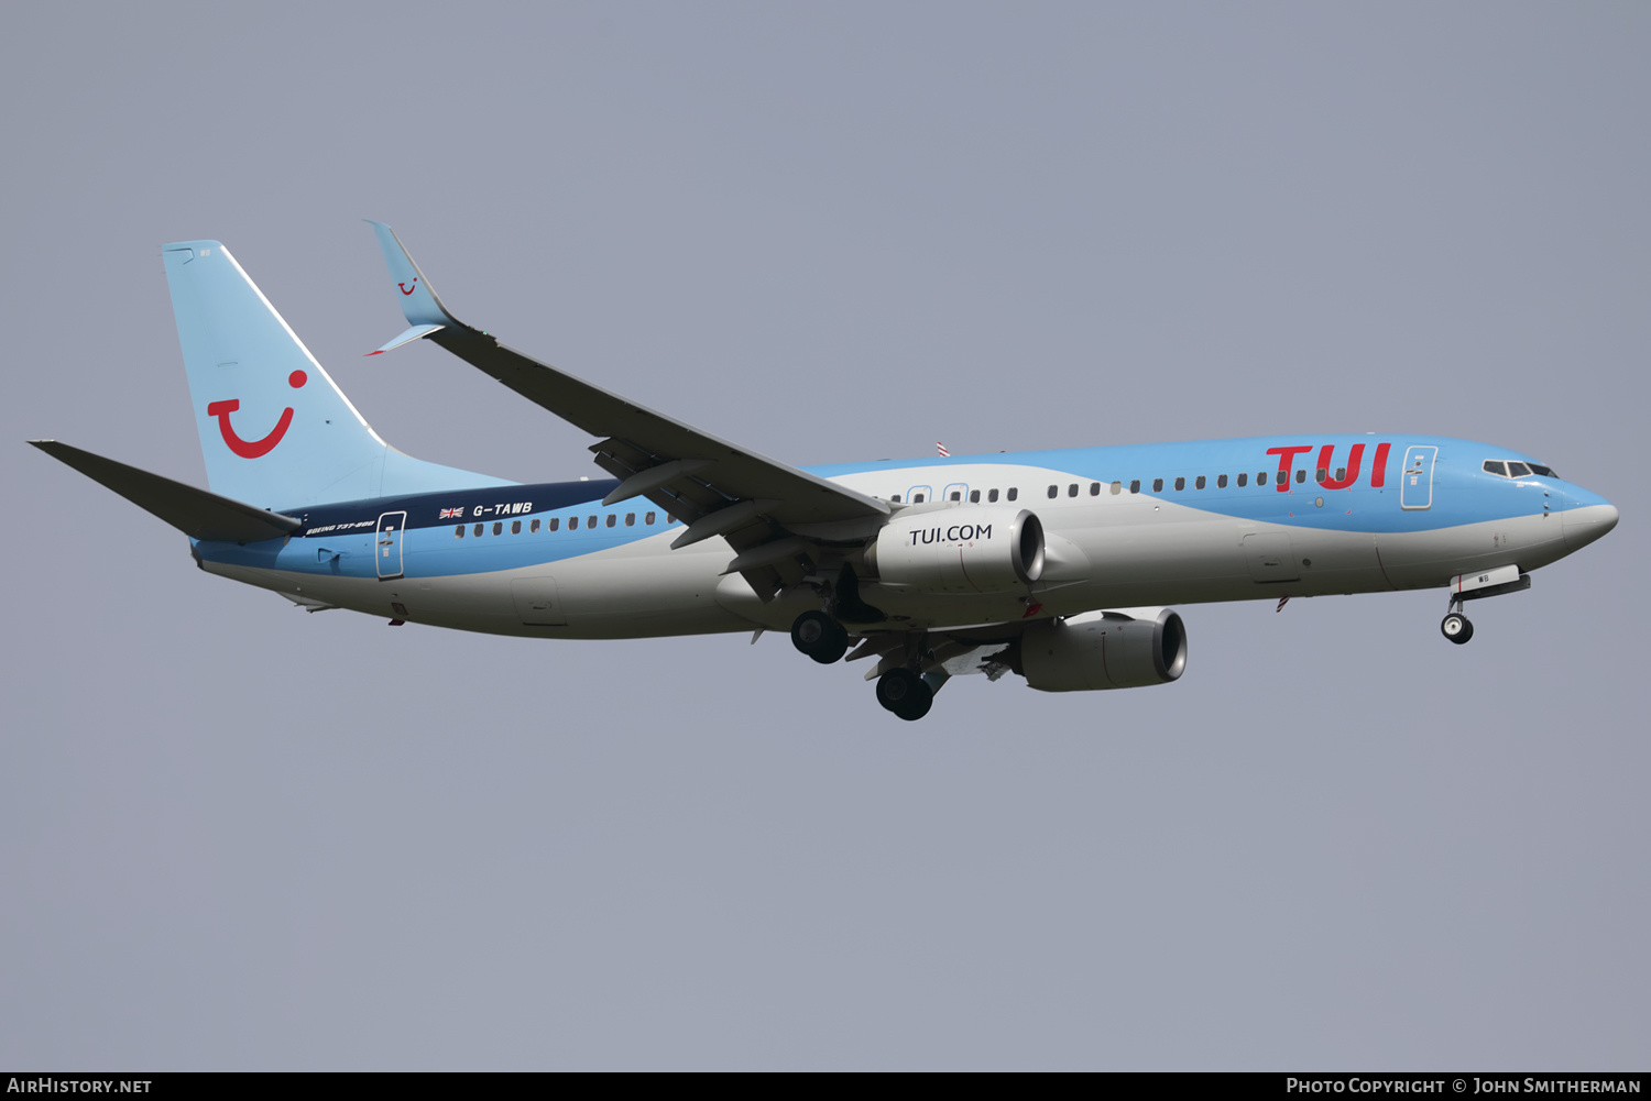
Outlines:
{"type": "Polygon", "coordinates": [[[510,485],[385,444],[218,241],[162,258],[215,494],[291,508],[510,485]]]}

